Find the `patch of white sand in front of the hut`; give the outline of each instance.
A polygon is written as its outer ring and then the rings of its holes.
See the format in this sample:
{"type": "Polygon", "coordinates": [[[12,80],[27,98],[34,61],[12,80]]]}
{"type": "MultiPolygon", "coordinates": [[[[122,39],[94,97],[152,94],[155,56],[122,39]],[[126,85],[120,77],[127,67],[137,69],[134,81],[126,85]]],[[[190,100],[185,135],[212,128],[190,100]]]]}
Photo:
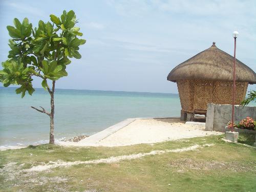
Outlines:
{"type": "Polygon", "coordinates": [[[112,135],[98,141],[92,142],[83,139],[77,143],[62,142],[60,144],[75,146],[124,146],[222,134],[221,132],[204,131],[204,129],[204,125],[185,124],[177,118],[137,119],[112,135]]]}

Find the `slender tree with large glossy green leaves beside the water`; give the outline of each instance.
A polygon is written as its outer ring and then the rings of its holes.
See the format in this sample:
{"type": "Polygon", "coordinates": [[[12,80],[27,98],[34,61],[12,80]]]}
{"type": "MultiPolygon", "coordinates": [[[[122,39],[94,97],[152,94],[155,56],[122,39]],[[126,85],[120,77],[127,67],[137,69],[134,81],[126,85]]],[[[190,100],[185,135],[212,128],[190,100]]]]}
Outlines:
{"type": "Polygon", "coordinates": [[[16,84],[20,87],[16,89],[17,94],[26,92],[30,95],[35,91],[32,86],[33,79],[41,78],[41,86],[49,92],[51,97],[51,112],[35,109],[40,113],[45,113],[50,117],[50,141],[54,144],[54,91],[55,82],[61,77],[68,76],[66,66],[71,63],[69,58],[80,59],[79,46],[86,43],[86,40],[77,38],[82,36],[74,11],[63,11],[59,17],[50,15],[51,22],[38,22],[38,28],[32,28],[28,18],[24,18],[20,23],[14,18],[13,26],[7,26],[9,35],[8,60],[2,62],[3,70],[0,71],[0,81],[4,87],[16,84]],[[51,88],[49,86],[51,84],[51,88]]]}

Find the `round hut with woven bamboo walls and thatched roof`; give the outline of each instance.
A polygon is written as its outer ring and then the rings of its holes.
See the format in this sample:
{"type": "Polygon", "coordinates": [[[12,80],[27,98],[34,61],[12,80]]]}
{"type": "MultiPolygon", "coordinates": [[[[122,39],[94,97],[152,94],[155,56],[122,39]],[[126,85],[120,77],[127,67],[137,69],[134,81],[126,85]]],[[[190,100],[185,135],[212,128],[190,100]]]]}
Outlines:
{"type": "MultiPolygon", "coordinates": [[[[232,103],[233,59],[214,42],[170,71],[167,80],[177,82],[182,113],[204,114],[207,103],[232,103]]],[[[256,73],[236,59],[235,104],[245,98],[248,83],[256,83],[256,73]]]]}

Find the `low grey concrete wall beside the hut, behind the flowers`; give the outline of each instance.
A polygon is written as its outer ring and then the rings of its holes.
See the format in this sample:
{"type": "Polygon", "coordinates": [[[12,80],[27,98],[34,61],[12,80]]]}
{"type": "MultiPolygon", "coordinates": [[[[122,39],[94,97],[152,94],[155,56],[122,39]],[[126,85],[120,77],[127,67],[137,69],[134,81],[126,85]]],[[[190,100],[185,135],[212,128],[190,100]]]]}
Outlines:
{"type": "MultiPolygon", "coordinates": [[[[246,117],[256,119],[256,106],[234,106],[234,122],[246,117]]],[[[225,126],[232,119],[232,105],[208,103],[205,131],[225,132],[225,126]]]]}

